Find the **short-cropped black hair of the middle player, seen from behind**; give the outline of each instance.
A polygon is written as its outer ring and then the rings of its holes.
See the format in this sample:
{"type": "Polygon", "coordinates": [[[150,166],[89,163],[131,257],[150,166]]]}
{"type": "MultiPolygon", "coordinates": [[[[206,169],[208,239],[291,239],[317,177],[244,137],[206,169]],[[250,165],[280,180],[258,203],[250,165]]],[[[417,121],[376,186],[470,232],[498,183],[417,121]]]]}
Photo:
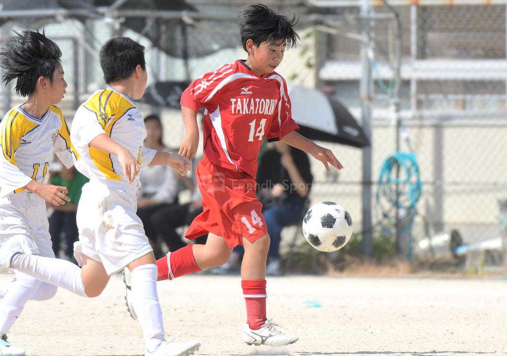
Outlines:
{"type": "Polygon", "coordinates": [[[144,46],[128,37],[107,41],[100,49],[99,58],[107,84],[130,78],[137,65],[146,70],[144,46]]]}

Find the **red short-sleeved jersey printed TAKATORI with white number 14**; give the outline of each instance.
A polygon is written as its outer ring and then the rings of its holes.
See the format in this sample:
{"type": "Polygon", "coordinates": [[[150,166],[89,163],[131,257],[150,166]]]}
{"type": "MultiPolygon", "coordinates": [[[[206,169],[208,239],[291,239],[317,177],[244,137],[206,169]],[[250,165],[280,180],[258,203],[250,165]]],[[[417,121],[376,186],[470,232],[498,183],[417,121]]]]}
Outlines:
{"type": "Polygon", "coordinates": [[[275,72],[259,77],[241,60],[192,82],[180,103],[196,112],[205,108],[206,158],[253,178],[263,138],[277,140],[299,129],[285,80],[275,72]]]}

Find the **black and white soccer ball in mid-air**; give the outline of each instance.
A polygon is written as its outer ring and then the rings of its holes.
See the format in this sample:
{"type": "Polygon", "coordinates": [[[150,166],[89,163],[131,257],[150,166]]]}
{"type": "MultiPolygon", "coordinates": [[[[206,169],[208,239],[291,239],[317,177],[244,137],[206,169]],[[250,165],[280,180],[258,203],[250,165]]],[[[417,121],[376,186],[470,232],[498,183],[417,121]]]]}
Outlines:
{"type": "Polygon", "coordinates": [[[332,201],[313,205],[303,218],[303,235],[322,252],[340,250],[352,236],[352,218],[347,210],[332,201]]]}

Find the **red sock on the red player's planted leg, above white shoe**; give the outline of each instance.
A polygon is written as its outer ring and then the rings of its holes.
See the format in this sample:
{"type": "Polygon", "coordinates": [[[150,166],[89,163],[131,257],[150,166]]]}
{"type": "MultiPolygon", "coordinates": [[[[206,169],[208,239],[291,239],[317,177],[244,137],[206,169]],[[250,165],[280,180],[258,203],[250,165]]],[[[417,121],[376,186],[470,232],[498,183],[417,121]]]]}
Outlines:
{"type": "Polygon", "coordinates": [[[246,322],[251,330],[259,330],[266,321],[266,279],[242,280],[246,303],[246,322]]]}

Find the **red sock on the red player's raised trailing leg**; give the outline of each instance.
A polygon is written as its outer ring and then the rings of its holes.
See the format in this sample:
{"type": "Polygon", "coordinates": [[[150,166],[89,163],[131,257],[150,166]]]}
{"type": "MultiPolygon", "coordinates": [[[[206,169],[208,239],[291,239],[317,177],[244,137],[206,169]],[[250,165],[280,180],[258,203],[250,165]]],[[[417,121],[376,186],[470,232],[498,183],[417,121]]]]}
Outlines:
{"type": "Polygon", "coordinates": [[[158,260],[157,280],[174,279],[185,274],[199,272],[201,269],[195,262],[193,246],[187,245],[158,260]],[[169,264],[167,259],[169,259],[169,264]]]}

